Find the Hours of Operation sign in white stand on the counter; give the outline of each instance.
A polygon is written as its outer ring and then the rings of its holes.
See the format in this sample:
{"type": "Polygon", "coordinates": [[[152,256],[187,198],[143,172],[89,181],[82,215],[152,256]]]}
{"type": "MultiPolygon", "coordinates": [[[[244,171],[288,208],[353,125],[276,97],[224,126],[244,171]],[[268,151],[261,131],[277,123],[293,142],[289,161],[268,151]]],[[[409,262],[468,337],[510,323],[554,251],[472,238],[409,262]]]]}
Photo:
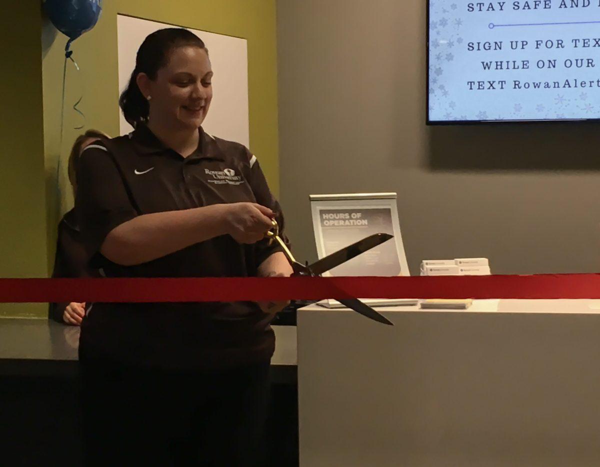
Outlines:
{"type": "MultiPolygon", "coordinates": [[[[332,276],[409,276],[395,193],[310,195],[314,238],[319,259],[372,234],[393,239],[323,273],[332,276]]],[[[331,305],[329,302],[329,305],[331,305]]],[[[364,300],[392,305],[406,300],[364,300]],[[389,303],[388,303],[389,302],[389,303]]],[[[414,300],[409,300],[410,303],[414,300]]]]}

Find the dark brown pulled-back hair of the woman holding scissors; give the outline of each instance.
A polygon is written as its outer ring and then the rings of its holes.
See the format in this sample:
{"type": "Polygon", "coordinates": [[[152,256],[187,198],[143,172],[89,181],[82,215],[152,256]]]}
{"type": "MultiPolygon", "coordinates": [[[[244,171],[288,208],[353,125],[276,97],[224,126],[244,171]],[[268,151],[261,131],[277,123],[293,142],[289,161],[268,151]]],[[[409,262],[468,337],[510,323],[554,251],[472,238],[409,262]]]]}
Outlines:
{"type": "Polygon", "coordinates": [[[131,73],[129,84],[119,98],[119,107],[125,120],[136,128],[139,123],[148,122],[150,107],[148,100],[137,86],[137,75],[145,73],[149,79],[155,80],[158,70],[167,65],[169,53],[176,47],[199,47],[208,53],[205,44],[193,32],[182,28],[158,29],[146,37],[137,49],[136,67],[131,73]]]}

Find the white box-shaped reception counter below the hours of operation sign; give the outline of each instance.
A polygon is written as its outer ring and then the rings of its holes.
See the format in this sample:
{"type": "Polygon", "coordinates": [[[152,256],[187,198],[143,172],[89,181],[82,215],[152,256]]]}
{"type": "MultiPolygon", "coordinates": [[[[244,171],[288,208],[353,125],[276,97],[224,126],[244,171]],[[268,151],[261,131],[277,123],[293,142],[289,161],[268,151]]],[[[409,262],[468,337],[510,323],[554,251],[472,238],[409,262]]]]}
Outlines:
{"type": "Polygon", "coordinates": [[[600,466],[600,302],[298,311],[301,467],[600,466]]]}

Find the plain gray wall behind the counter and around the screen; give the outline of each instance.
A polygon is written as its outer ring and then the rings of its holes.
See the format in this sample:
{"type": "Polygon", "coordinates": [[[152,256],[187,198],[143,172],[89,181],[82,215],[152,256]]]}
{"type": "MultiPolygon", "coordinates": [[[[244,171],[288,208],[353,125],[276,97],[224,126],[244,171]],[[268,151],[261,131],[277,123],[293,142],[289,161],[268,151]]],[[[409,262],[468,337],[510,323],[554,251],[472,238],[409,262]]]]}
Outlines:
{"type": "Polygon", "coordinates": [[[316,258],[308,195],[395,191],[411,273],[600,272],[600,124],[425,125],[425,0],[280,0],[281,203],[316,258]]]}

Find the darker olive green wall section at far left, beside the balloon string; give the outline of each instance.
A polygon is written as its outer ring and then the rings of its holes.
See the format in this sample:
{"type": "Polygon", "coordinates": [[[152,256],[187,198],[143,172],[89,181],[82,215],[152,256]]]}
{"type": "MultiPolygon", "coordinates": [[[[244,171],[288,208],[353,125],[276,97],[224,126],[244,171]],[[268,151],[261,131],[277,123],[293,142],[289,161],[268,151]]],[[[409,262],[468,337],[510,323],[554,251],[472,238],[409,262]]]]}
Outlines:
{"type": "MultiPolygon", "coordinates": [[[[47,264],[40,3],[12,2],[0,23],[0,277],[40,277],[47,264]]],[[[0,317],[45,309],[3,304],[0,317]]]]}

